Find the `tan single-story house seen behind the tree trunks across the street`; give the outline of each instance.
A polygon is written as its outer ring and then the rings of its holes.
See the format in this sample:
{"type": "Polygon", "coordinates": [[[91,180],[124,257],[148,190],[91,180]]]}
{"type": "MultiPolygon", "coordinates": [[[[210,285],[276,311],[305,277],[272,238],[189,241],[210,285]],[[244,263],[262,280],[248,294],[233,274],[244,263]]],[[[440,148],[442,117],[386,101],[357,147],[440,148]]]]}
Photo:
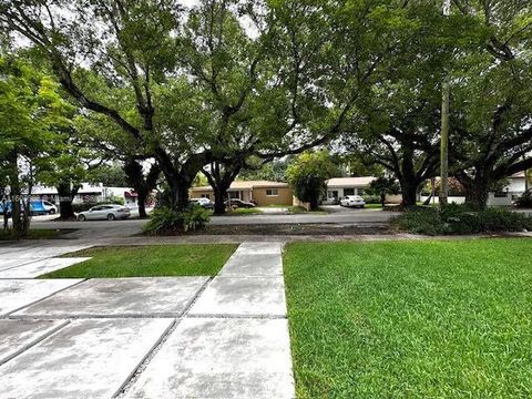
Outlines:
{"type": "MultiPolygon", "coordinates": [[[[231,198],[254,202],[258,206],[293,205],[293,192],[288,183],[268,181],[235,181],[227,194],[231,198]]],[[[191,190],[191,197],[205,197],[214,201],[213,187],[202,186],[191,190]]]]}

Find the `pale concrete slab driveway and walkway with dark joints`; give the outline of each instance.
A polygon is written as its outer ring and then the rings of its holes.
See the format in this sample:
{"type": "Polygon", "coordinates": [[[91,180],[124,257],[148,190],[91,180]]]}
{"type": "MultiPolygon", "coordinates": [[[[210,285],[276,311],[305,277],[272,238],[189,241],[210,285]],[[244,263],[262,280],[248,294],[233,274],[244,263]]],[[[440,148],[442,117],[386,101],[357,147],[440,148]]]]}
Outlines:
{"type": "Polygon", "coordinates": [[[214,278],[28,278],[81,247],[0,247],[0,399],[294,397],[283,244],[214,278]]]}

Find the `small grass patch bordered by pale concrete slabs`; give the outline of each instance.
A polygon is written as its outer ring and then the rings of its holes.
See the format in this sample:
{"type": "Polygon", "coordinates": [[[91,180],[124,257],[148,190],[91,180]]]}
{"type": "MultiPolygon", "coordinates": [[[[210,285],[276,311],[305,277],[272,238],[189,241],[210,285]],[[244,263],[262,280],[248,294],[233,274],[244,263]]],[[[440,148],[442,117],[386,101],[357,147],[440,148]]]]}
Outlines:
{"type": "Polygon", "coordinates": [[[92,259],[41,277],[215,276],[236,247],[232,244],[95,247],[64,255],[92,256],[92,259]]]}

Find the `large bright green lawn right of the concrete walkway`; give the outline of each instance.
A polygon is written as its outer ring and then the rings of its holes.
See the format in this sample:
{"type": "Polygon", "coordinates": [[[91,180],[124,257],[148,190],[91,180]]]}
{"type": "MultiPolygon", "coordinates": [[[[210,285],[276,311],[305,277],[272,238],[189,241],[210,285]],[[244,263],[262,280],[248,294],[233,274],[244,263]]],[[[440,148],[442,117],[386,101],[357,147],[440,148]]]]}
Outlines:
{"type": "Polygon", "coordinates": [[[298,398],[531,398],[532,239],[298,243],[298,398]]]}

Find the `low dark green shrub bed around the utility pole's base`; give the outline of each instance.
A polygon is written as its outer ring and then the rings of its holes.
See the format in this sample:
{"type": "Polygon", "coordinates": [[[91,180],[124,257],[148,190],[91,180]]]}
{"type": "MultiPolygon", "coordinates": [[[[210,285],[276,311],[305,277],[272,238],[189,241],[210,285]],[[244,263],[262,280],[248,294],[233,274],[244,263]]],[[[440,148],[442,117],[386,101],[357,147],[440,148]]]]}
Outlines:
{"type": "Polygon", "coordinates": [[[532,231],[532,217],[501,208],[472,211],[450,204],[443,211],[420,207],[391,221],[392,228],[415,234],[475,234],[532,231]]]}

